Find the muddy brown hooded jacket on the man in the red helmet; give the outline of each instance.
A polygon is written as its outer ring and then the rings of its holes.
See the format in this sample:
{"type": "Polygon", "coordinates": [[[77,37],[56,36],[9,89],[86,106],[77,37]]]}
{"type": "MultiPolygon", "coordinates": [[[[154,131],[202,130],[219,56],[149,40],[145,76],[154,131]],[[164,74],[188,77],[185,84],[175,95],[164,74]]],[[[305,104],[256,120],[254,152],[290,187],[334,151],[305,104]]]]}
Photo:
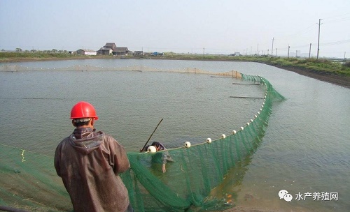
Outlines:
{"type": "Polygon", "coordinates": [[[56,172],[76,212],[126,211],[129,197],[118,174],[129,167],[123,146],[91,128],[74,130],[55,153],[56,172]]]}

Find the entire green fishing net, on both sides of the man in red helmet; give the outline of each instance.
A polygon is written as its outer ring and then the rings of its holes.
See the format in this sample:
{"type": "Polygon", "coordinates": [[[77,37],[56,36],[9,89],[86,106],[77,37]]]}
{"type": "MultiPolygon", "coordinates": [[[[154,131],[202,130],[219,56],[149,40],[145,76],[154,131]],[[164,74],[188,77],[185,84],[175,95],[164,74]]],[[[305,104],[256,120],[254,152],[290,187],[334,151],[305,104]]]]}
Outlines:
{"type": "MultiPolygon", "coordinates": [[[[232,77],[260,84],[265,89],[262,106],[251,120],[230,135],[183,144],[156,153],[128,152],[131,168],[121,174],[135,211],[221,211],[235,206],[235,193],[217,195],[229,172],[258,148],[267,128],[272,103],[283,100],[273,86],[259,76],[233,72],[232,77]],[[169,154],[162,173],[162,156],[169,154]]],[[[69,195],[56,175],[53,158],[0,144],[0,209],[72,211],[69,195]]]]}

